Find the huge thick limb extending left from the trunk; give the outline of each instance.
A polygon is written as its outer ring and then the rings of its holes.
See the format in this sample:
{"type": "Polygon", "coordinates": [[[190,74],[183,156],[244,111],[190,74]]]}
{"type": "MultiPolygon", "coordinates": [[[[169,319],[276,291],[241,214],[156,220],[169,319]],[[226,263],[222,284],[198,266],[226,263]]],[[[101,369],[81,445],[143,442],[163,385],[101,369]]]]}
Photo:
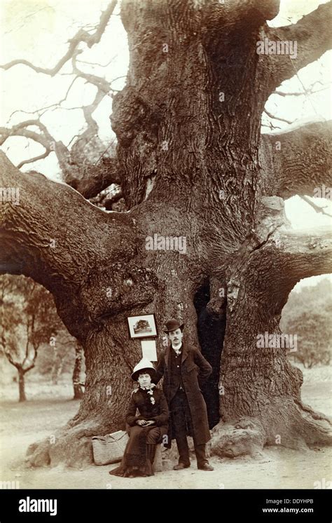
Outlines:
{"type": "Polygon", "coordinates": [[[132,257],[129,216],[103,212],[66,184],[39,173],[22,173],[3,153],[0,186],[1,273],[13,273],[21,266],[21,273],[54,294],[67,285],[81,287],[92,267],[119,252],[123,260],[132,257]],[[73,212],[79,221],[72,218],[73,212]]]}

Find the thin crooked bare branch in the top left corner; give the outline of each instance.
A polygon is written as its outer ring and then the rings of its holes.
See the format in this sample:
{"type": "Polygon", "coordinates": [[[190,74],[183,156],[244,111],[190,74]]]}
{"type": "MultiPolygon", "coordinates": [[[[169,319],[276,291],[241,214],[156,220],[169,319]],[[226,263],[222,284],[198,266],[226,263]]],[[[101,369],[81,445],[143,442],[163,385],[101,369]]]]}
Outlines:
{"type": "Polygon", "coordinates": [[[99,25],[97,25],[97,28],[93,34],[88,33],[84,29],[80,29],[76,35],[69,40],[69,48],[67,50],[67,53],[60,58],[59,62],[55,64],[52,68],[47,67],[37,67],[36,65],[32,64],[28,60],[13,60],[12,62],[8,62],[8,64],[1,65],[0,67],[2,69],[10,69],[14,65],[22,64],[27,65],[27,67],[31,67],[31,69],[34,69],[37,73],[44,73],[49,74],[50,76],[55,76],[57,72],[62,69],[64,64],[68,62],[68,60],[73,57],[74,53],[76,53],[76,49],[78,45],[81,42],[84,42],[87,44],[89,48],[95,45],[95,43],[99,43],[100,39],[102,38],[102,34],[104,33],[104,30],[106,29],[106,25],[109,23],[109,19],[111,18],[111,15],[114,11],[114,8],[116,6],[116,0],[113,0],[111,4],[106,8],[106,10],[102,13],[100,19],[99,19],[99,25]]]}

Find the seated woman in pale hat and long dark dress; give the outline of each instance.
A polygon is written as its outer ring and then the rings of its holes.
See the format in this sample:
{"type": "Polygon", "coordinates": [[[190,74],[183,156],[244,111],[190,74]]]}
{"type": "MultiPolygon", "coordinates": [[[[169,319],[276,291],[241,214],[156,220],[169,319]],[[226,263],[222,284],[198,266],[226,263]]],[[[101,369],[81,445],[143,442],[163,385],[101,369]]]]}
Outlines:
{"type": "Polygon", "coordinates": [[[150,361],[142,359],[132,373],[139,388],[132,392],[125,421],[129,425],[129,440],[120,466],[109,474],[123,477],[152,476],[155,445],[168,430],[168,407],[162,390],[151,383],[156,377],[150,361]],[[137,416],[137,409],[139,416],[137,416]]]}

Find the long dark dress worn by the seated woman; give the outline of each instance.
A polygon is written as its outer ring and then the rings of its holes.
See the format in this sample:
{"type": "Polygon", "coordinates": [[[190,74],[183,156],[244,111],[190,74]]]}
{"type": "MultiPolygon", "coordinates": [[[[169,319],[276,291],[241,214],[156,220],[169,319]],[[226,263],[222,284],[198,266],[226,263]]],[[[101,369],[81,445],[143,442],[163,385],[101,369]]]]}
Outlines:
{"type": "Polygon", "coordinates": [[[162,390],[137,388],[132,393],[125,421],[129,426],[129,440],[120,466],[110,470],[111,475],[128,477],[129,475],[152,476],[151,461],[147,458],[146,444],[162,442],[168,430],[168,407],[162,390]],[[151,393],[152,391],[152,393],[151,393]],[[151,398],[152,401],[151,401],[151,398]],[[137,409],[139,415],[136,416],[137,409]],[[137,425],[136,421],[154,420],[148,427],[137,425]]]}

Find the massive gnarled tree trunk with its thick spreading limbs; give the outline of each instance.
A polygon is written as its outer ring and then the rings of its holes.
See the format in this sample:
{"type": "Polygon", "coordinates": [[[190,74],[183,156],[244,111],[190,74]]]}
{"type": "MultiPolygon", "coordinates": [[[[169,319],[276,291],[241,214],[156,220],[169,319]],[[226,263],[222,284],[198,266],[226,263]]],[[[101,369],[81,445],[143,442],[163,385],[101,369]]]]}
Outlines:
{"type": "MultiPolygon", "coordinates": [[[[265,102],[290,74],[284,57],[256,53],[278,11],[276,0],[261,4],[123,0],[130,69],[111,122],[129,212],[102,212],[74,189],[1,160],[3,186],[20,187],[20,205],[2,210],[2,270],[45,285],[85,352],[78,414],[55,444],[29,450],[34,465],[81,465],[92,459],[92,435],[123,428],[141,358],[127,316],[147,313],[155,313],[158,351],[165,318],[176,316],[213,362],[205,394],[213,392],[211,425],[221,420],[217,454],[331,441],[328,421],[301,403],[302,376],[287,351],[257,346],[260,334],[279,334],[296,282],[331,271],[330,237],[292,233],[282,200],[328,184],[328,125],[261,137],[265,102]],[[303,170],[303,140],[315,133],[321,140],[303,170]],[[154,235],[180,238],[179,249],[146,248],[154,235]],[[212,343],[203,348],[207,329],[212,343]]],[[[310,20],[320,29],[326,6],[317,13],[310,20]]],[[[303,20],[289,36],[298,39],[298,67],[328,48],[320,31],[310,54],[303,20]]]]}

